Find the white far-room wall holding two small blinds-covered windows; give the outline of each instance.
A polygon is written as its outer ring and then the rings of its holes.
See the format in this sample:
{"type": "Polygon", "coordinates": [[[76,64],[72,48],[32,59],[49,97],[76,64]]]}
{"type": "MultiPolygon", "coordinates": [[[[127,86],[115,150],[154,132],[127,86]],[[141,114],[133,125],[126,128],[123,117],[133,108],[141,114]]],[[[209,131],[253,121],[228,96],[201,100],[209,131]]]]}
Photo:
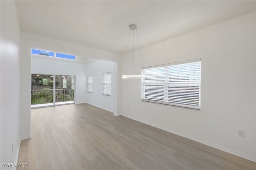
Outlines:
{"type": "MultiPolygon", "coordinates": [[[[93,86],[92,93],[86,93],[86,103],[106,109],[108,111],[114,112],[115,106],[115,91],[114,82],[116,82],[116,77],[114,73],[115,63],[112,61],[96,61],[87,64],[86,74],[93,75],[93,86]],[[112,95],[106,96],[102,95],[102,73],[112,72],[112,95]]],[[[87,77],[86,77],[86,87],[87,87],[87,77]]]]}

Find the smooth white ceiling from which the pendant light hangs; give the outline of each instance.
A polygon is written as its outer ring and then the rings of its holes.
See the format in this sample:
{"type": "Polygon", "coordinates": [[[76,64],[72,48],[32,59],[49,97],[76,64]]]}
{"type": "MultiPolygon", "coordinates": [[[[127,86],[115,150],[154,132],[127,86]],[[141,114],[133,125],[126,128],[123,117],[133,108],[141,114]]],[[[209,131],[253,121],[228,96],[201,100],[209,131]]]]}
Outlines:
{"type": "Polygon", "coordinates": [[[250,13],[256,1],[16,1],[20,29],[125,53],[129,25],[140,47],[250,13]]]}

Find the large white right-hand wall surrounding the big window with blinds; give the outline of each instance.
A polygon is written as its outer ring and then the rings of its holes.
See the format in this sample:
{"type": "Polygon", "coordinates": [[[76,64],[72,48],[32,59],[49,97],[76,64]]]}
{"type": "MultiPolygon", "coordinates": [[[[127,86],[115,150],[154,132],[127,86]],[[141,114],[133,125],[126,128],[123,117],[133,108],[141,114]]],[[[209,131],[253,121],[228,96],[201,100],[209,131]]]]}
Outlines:
{"type": "MultiPolygon", "coordinates": [[[[141,81],[124,79],[122,115],[256,161],[255,17],[253,12],[141,49],[144,67],[202,59],[201,110],[141,101],[141,81]]],[[[140,73],[139,58],[135,63],[140,73]]]]}

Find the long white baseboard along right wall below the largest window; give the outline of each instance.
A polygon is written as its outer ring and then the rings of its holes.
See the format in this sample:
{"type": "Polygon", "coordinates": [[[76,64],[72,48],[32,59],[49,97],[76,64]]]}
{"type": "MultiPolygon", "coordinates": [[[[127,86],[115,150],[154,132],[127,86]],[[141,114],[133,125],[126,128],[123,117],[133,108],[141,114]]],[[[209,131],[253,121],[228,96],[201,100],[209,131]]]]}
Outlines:
{"type": "Polygon", "coordinates": [[[169,128],[166,128],[166,127],[162,127],[161,125],[156,125],[154,123],[151,123],[151,122],[148,122],[148,121],[144,121],[142,119],[138,119],[136,117],[132,117],[130,115],[126,115],[124,113],[121,113],[120,115],[124,116],[124,117],[128,117],[130,119],[133,119],[135,121],[139,121],[139,122],[142,122],[142,123],[145,123],[147,125],[150,125],[152,127],[156,127],[156,128],[160,128],[162,130],[166,130],[167,132],[171,132],[171,133],[174,133],[174,134],[177,134],[179,136],[182,136],[182,137],[185,137],[185,138],[188,138],[188,139],[191,139],[191,140],[194,140],[196,142],[200,142],[202,144],[205,144],[205,145],[208,145],[208,146],[211,146],[213,148],[216,148],[216,149],[219,149],[219,150],[222,150],[224,152],[228,152],[230,154],[234,154],[236,156],[239,156],[241,158],[245,158],[245,159],[248,159],[248,160],[251,160],[253,162],[256,162],[256,157],[254,156],[251,156],[251,155],[248,155],[248,154],[245,154],[245,153],[242,153],[242,152],[239,152],[237,150],[233,150],[233,149],[230,149],[230,148],[227,148],[225,146],[221,146],[221,145],[218,145],[218,144],[215,144],[215,143],[212,143],[212,142],[208,142],[206,140],[203,140],[203,139],[200,139],[200,138],[196,138],[194,136],[190,136],[188,134],[184,134],[182,132],[178,132],[176,130],[172,130],[172,129],[169,129],[169,128]]]}

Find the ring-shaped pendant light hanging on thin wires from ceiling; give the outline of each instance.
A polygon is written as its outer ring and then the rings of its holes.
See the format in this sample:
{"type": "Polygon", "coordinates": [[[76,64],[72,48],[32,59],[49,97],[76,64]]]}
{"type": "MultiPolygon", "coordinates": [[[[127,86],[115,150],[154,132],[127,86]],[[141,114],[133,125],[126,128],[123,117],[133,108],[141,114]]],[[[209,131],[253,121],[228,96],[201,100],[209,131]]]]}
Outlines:
{"type": "MultiPolygon", "coordinates": [[[[133,65],[133,74],[132,75],[122,75],[122,79],[143,79],[145,77],[144,75],[135,75],[134,74],[134,30],[136,30],[139,52],[140,52],[140,45],[139,45],[138,34],[137,34],[137,26],[134,25],[134,24],[130,25],[130,33],[131,33],[131,30],[132,30],[132,65],[133,65]]],[[[126,48],[125,63],[126,63],[126,57],[127,57],[127,52],[128,52],[130,33],[129,33],[128,43],[127,43],[127,48],[126,48]]],[[[142,66],[141,55],[140,55],[140,61],[141,61],[141,66],[142,66]]]]}

